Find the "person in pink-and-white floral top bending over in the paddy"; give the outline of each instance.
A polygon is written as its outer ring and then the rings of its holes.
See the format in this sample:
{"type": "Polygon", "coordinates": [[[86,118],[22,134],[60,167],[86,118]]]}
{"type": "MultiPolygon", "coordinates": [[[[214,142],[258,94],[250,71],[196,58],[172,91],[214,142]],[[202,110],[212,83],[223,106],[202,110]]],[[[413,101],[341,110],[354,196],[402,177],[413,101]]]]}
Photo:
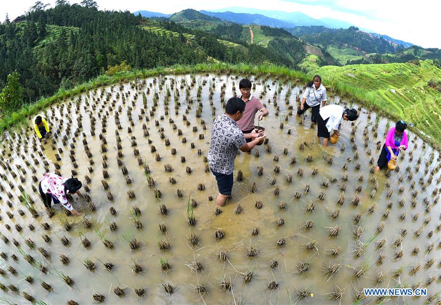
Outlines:
{"type": "Polygon", "coordinates": [[[66,195],[76,193],[81,196],[79,191],[81,186],[81,181],[76,178],[63,178],[56,174],[47,173],[40,181],[38,189],[46,209],[50,209],[53,200],[54,204],[61,203],[74,216],[78,216],[81,213],[73,208],[66,195]]]}

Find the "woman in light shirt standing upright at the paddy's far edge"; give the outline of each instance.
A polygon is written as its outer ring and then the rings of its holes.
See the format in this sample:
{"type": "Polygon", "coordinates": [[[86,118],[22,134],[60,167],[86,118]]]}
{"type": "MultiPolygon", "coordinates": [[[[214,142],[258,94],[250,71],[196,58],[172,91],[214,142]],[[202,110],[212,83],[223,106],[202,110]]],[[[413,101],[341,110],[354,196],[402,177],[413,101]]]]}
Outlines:
{"type": "Polygon", "coordinates": [[[326,104],[326,88],[321,84],[321,77],[314,75],[312,82],[306,86],[305,92],[302,96],[302,102],[297,109],[297,116],[301,116],[309,108],[311,108],[311,121],[317,123],[319,116],[320,103],[324,107],[326,104]]]}

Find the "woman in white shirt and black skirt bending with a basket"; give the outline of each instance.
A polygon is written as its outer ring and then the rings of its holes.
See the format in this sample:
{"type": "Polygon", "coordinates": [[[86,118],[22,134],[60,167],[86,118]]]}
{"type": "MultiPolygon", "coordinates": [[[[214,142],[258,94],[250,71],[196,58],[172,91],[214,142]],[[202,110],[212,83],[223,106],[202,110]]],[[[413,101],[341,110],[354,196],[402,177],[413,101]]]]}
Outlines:
{"type": "Polygon", "coordinates": [[[323,146],[328,146],[328,140],[333,132],[334,135],[340,137],[339,126],[342,119],[345,121],[354,121],[358,117],[357,110],[344,109],[340,105],[327,105],[320,109],[317,116],[317,137],[323,138],[323,146]]]}

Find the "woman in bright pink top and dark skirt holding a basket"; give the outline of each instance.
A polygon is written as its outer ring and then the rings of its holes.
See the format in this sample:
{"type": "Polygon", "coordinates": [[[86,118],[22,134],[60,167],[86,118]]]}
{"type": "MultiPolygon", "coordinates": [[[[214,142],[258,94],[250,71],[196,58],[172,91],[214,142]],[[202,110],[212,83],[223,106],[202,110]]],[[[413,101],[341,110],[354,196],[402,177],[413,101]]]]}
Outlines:
{"type": "Polygon", "coordinates": [[[395,127],[389,129],[383,148],[381,148],[380,157],[378,157],[376,171],[380,171],[389,161],[396,160],[396,156],[401,150],[407,149],[407,134],[404,131],[407,128],[403,120],[395,123],[395,127]]]}

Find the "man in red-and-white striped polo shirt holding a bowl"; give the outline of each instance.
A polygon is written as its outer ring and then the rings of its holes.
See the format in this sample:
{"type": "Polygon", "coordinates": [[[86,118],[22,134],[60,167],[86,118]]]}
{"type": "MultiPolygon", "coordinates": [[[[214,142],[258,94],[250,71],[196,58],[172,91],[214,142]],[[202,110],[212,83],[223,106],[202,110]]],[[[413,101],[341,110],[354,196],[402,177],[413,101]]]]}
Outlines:
{"type": "MultiPolygon", "coordinates": [[[[260,121],[263,117],[268,116],[269,112],[258,98],[251,96],[251,82],[249,79],[241,79],[239,82],[239,90],[241,91],[241,96],[238,97],[245,102],[245,111],[242,118],[237,121],[237,124],[244,135],[246,135],[251,133],[254,129],[254,117],[256,117],[256,113],[258,111],[261,112],[257,117],[257,119],[260,121]]],[[[249,137],[246,139],[246,142],[250,142],[252,140],[252,137],[249,137]]],[[[250,152],[251,150],[246,151],[245,153],[250,154],[250,152]]]]}

